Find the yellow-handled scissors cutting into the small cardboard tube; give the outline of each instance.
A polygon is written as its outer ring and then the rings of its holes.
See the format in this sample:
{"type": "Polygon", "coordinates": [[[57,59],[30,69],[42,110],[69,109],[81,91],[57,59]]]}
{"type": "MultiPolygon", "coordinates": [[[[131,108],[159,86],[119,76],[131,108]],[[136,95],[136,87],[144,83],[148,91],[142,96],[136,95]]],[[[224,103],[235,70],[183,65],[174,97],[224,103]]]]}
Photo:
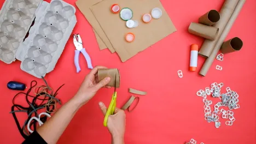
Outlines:
{"type": "Polygon", "coordinates": [[[108,106],[108,110],[107,110],[107,113],[105,115],[105,118],[104,118],[104,122],[103,122],[103,125],[105,127],[107,127],[107,122],[108,122],[108,117],[109,115],[114,115],[114,112],[115,112],[115,107],[117,106],[117,75],[115,75],[115,89],[114,89],[114,94],[112,95],[112,100],[108,106]]]}

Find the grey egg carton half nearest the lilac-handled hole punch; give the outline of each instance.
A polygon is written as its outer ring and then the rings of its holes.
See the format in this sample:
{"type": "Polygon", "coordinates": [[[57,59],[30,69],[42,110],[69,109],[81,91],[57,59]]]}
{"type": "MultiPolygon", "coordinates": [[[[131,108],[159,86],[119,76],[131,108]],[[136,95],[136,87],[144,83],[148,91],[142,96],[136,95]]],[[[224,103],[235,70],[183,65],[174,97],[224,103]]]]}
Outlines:
{"type": "Polygon", "coordinates": [[[51,1],[36,16],[30,34],[16,52],[21,69],[38,78],[54,70],[76,23],[73,5],[51,1]]]}

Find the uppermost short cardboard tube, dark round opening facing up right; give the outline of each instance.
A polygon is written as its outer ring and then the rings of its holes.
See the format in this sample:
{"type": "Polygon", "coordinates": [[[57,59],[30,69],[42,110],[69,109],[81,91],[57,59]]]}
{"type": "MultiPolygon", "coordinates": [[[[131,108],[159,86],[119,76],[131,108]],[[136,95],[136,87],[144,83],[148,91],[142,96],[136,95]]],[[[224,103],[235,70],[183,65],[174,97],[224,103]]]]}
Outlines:
{"type": "Polygon", "coordinates": [[[220,19],[219,12],[217,10],[210,10],[206,14],[199,18],[199,23],[207,26],[212,26],[220,19]]]}

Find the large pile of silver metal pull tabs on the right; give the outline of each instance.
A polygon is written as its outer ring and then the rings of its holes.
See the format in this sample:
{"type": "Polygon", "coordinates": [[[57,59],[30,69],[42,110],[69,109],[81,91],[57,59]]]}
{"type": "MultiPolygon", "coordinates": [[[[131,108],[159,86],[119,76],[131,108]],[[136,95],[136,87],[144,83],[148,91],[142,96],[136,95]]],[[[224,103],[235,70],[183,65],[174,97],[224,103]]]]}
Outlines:
{"type": "Polygon", "coordinates": [[[205,109],[205,120],[208,123],[214,122],[216,128],[220,127],[218,115],[222,113],[221,116],[223,119],[229,119],[225,122],[225,124],[232,125],[233,122],[235,121],[235,118],[234,112],[230,110],[240,108],[240,105],[238,104],[238,94],[234,91],[231,91],[229,87],[226,88],[226,93],[221,94],[220,90],[223,86],[223,83],[218,84],[217,82],[214,82],[211,85],[211,89],[209,87],[206,87],[205,91],[200,89],[196,93],[197,96],[203,97],[203,103],[205,103],[205,106],[203,106],[203,108],[205,109]],[[210,107],[212,101],[206,99],[207,95],[211,95],[211,93],[213,98],[219,98],[220,100],[222,100],[221,102],[214,105],[214,111],[212,111],[210,107]],[[229,107],[229,110],[226,111],[224,109],[220,109],[221,106],[229,107]]]}

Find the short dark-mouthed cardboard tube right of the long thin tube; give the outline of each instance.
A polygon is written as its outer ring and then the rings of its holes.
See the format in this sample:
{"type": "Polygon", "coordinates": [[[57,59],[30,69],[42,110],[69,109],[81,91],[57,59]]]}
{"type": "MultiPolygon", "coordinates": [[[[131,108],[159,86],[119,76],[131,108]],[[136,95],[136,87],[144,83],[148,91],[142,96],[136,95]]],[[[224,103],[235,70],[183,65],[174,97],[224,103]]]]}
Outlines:
{"type": "Polygon", "coordinates": [[[222,51],[223,54],[239,51],[242,49],[243,41],[240,38],[232,38],[226,42],[223,43],[222,47],[220,48],[220,51],[222,51]]]}

